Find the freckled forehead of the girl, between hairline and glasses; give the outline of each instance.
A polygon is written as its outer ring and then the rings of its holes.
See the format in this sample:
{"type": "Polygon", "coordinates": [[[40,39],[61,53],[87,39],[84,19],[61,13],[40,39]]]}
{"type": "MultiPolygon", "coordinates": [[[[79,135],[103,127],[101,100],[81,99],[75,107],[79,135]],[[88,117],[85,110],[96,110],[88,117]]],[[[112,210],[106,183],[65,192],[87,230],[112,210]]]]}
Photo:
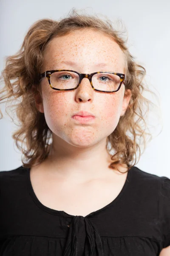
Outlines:
{"type": "MultiPolygon", "coordinates": [[[[106,67],[110,67],[114,72],[125,70],[125,55],[119,45],[102,32],[93,29],[81,29],[53,38],[46,45],[43,52],[43,67],[46,70],[68,68],[65,64],[57,66],[62,61],[76,62],[80,72],[81,68],[88,69],[97,63],[106,63],[106,67]]],[[[99,70],[102,71],[102,68],[98,68],[97,71],[99,70]]]]}

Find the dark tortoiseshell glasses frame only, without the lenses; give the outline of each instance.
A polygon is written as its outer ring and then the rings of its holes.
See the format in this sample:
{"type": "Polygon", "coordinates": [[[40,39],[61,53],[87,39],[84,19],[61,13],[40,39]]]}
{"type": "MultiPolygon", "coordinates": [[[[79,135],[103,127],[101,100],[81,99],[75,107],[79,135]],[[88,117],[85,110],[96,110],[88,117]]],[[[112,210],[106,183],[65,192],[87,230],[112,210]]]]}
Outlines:
{"type": "Polygon", "coordinates": [[[122,82],[125,81],[125,74],[122,74],[122,73],[116,73],[116,72],[108,72],[108,71],[99,71],[99,72],[94,72],[94,73],[91,73],[91,74],[82,74],[82,73],[79,73],[77,71],[74,71],[74,70],[46,70],[45,72],[43,72],[42,74],[40,74],[40,80],[42,78],[46,77],[48,79],[48,83],[50,85],[50,87],[54,90],[60,90],[60,91],[66,91],[66,90],[75,90],[79,87],[79,84],[81,83],[82,79],[83,78],[88,78],[90,83],[91,83],[91,87],[95,90],[95,91],[99,91],[99,92],[106,92],[106,93],[113,93],[113,92],[117,92],[121,85],[122,85],[122,82]],[[50,81],[50,77],[51,77],[51,74],[52,73],[55,73],[55,72],[58,72],[58,71],[70,71],[70,72],[74,72],[76,73],[77,75],[79,75],[79,83],[77,84],[76,87],[74,88],[71,88],[71,89],[57,89],[57,88],[54,88],[51,84],[51,81],[50,81]],[[93,84],[92,84],[92,76],[94,76],[95,74],[98,74],[98,73],[109,73],[109,74],[113,74],[113,75],[117,75],[120,77],[120,84],[119,84],[119,87],[117,90],[113,90],[113,91],[105,91],[105,90],[97,90],[94,88],[93,84]]]}

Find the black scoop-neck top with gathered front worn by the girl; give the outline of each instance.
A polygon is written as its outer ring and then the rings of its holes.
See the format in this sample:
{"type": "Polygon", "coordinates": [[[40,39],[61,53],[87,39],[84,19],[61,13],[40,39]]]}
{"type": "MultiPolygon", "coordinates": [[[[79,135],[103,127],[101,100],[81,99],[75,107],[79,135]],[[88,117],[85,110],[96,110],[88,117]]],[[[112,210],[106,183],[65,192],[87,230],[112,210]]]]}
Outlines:
{"type": "Polygon", "coordinates": [[[170,245],[169,178],[134,166],[116,199],[83,217],[41,204],[29,171],[0,172],[0,256],[159,256],[170,245]]]}

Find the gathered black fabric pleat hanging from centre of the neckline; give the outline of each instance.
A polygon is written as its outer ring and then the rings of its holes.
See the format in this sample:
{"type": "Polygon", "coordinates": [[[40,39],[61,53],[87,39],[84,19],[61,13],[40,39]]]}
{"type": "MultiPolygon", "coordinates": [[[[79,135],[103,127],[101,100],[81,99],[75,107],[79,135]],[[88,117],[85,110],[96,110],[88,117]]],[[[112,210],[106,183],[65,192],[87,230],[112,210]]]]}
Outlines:
{"type": "Polygon", "coordinates": [[[104,256],[99,232],[88,218],[72,219],[63,256],[104,256]]]}

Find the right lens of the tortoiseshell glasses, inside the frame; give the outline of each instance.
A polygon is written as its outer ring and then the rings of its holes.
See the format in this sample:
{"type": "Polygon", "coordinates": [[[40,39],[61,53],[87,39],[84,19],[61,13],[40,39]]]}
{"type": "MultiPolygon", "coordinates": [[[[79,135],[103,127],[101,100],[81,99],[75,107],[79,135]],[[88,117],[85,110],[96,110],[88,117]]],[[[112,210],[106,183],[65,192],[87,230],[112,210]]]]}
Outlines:
{"type": "Polygon", "coordinates": [[[95,89],[101,91],[114,91],[119,88],[120,77],[110,73],[97,73],[92,77],[95,89]]]}

